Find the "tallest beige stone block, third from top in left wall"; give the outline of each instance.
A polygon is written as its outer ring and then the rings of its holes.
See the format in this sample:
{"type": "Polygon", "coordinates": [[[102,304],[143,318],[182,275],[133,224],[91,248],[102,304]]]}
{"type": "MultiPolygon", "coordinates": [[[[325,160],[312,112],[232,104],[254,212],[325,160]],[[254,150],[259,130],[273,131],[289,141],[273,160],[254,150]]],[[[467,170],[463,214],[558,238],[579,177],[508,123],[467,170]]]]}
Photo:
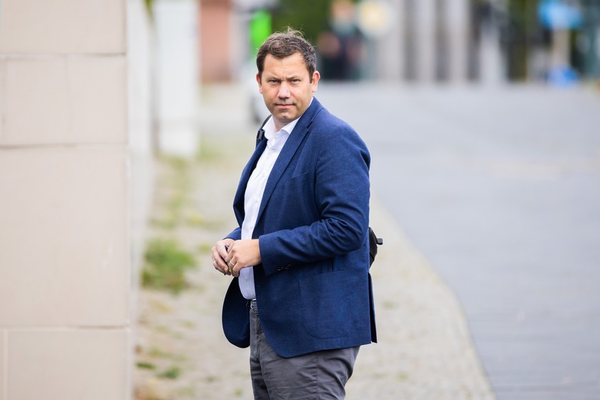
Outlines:
{"type": "Polygon", "coordinates": [[[127,151],[0,151],[0,326],[129,321],[127,151]]]}

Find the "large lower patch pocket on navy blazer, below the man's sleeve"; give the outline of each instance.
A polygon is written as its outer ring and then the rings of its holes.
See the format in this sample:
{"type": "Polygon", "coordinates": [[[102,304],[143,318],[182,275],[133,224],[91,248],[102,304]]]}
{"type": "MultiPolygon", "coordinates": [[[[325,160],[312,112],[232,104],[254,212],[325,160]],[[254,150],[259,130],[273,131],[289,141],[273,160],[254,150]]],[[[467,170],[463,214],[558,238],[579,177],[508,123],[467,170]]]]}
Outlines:
{"type": "Polygon", "coordinates": [[[298,280],[302,319],[309,335],[318,339],[351,333],[351,316],[344,309],[350,285],[348,271],[333,271],[298,280]]]}

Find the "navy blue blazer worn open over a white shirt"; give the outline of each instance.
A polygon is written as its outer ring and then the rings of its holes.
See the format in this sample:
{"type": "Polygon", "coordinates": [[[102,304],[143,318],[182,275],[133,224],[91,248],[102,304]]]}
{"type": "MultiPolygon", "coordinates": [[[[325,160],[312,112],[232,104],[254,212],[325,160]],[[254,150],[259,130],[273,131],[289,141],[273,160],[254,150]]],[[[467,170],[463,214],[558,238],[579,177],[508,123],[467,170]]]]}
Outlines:
{"type": "MultiPolygon", "coordinates": [[[[234,198],[244,220],[247,181],[267,140],[245,166],[234,198]]],[[[359,135],[316,98],[298,120],[269,175],[253,238],[260,323],[282,357],[376,342],[369,274],[370,155],[359,135]]],[[[238,240],[237,227],[226,237],[238,240]]],[[[249,311],[238,278],[223,302],[223,331],[249,346],[249,311]]]]}

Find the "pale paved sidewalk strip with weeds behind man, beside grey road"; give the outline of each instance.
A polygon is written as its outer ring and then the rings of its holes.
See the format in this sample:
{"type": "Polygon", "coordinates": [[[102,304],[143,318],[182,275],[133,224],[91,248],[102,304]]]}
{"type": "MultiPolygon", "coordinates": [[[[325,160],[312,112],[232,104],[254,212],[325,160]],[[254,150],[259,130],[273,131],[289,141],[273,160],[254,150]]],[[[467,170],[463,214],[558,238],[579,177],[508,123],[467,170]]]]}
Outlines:
{"type": "MultiPolygon", "coordinates": [[[[248,351],[227,343],[221,304],[230,278],[214,271],[208,248],[234,224],[232,199],[252,153],[256,127],[237,86],[203,91],[201,161],[190,164],[186,217],[164,232],[197,256],[190,288],[173,296],[140,290],[135,329],[135,398],[252,399],[248,351]],[[171,372],[169,375],[168,372],[171,372]]],[[[377,155],[373,155],[377,156],[377,155]]],[[[168,166],[157,165],[153,215],[168,201],[168,166]]],[[[370,225],[384,245],[371,269],[378,344],[363,346],[346,387],[348,400],[494,399],[454,293],[428,265],[372,194],[370,225]]]]}

